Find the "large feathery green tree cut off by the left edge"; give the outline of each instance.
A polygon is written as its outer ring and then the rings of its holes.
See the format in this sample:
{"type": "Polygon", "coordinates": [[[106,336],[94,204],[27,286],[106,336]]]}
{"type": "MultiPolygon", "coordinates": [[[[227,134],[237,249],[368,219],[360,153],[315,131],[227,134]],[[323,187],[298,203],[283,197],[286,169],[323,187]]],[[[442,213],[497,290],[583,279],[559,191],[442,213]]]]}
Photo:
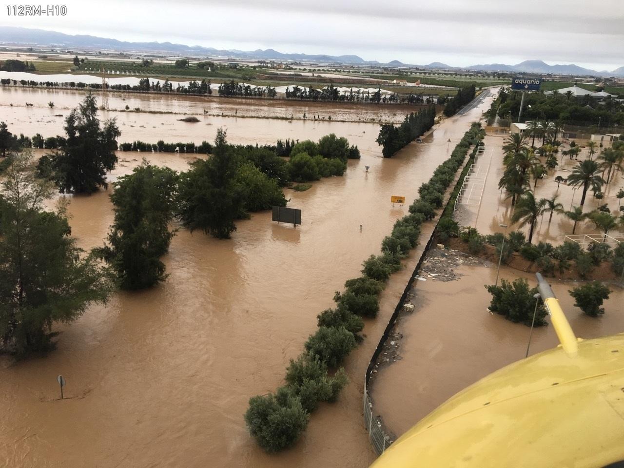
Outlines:
{"type": "Polygon", "coordinates": [[[105,301],[110,277],[71,238],[64,207],[43,209],[51,188],[37,181],[29,153],[15,158],[0,203],[0,348],[19,356],[54,347],[52,324],[105,301]]]}

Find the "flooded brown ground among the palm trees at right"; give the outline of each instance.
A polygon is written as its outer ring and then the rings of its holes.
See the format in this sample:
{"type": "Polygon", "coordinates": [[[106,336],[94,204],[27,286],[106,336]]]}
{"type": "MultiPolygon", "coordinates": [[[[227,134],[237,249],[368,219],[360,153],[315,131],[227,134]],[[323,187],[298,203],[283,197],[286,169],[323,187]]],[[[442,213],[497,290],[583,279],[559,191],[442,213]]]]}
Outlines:
{"type": "MultiPolygon", "coordinates": [[[[483,196],[480,206],[457,205],[458,209],[456,211],[455,220],[459,222],[460,226],[476,227],[480,233],[485,234],[504,232],[505,228],[500,227],[500,224],[509,225],[508,232],[519,229],[517,225],[512,225],[510,222],[513,215],[511,198],[506,198],[507,194],[505,190],[501,191],[499,188],[500,177],[502,177],[505,172],[502,150],[504,140],[503,137],[485,137],[485,154],[480,162],[480,165],[482,165],[481,170],[487,172],[483,196]]],[[[557,187],[558,184],[555,182],[555,177],[560,175],[563,178],[567,178],[578,162],[585,160],[588,150],[583,149],[578,155],[577,161],[570,160],[567,156],[562,156],[561,150],[565,149],[568,149],[567,145],[560,149],[560,154],[558,155],[559,165],[557,168],[550,170],[543,179],[538,180],[537,187],[535,188],[535,198],[538,200],[540,198],[551,198],[553,195],[558,194],[557,202],[562,203],[563,209],[568,211],[572,207],[579,205],[582,187],[575,189],[574,187],[568,187],[565,183],[561,183],[557,187]]],[[[533,190],[533,178],[531,178],[530,187],[531,190],[533,190]]],[[[592,191],[588,190],[587,197],[585,198],[585,205],[583,205],[583,211],[588,213],[598,208],[598,206],[608,203],[612,213],[617,213],[618,199],[615,197],[615,194],[621,188],[624,188],[624,175],[620,171],[612,176],[612,181],[608,185],[603,186],[604,197],[602,200],[594,198],[592,191]]],[[[563,213],[555,213],[552,217],[552,222],[548,223],[549,214],[550,213],[546,213],[543,217],[540,217],[535,227],[533,243],[543,241],[558,245],[565,241],[566,235],[572,234],[574,223],[570,219],[565,217],[563,213]]],[[[528,237],[529,227],[525,226],[524,228],[520,228],[520,230],[525,232],[528,237]]],[[[617,229],[614,232],[616,231],[617,229]]],[[[575,231],[576,234],[592,234],[598,232],[599,230],[597,230],[595,225],[589,220],[579,222],[575,231]]]]}

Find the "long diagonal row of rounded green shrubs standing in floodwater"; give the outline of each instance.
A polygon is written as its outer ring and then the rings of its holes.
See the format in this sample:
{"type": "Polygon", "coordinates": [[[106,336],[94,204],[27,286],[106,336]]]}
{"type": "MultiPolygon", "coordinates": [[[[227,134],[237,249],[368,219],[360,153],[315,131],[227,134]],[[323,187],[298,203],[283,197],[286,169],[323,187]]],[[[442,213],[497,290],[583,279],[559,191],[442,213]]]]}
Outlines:
{"type": "Polygon", "coordinates": [[[381,243],[381,254],[371,255],[363,263],[363,276],[344,283],[336,292],[336,306],[317,316],[318,329],[306,341],[303,353],[291,359],[286,369],[285,385],[275,394],[252,397],[245,421],[252,436],[268,452],[292,446],[305,430],[310,412],[318,402],[332,402],[346,385],[343,359],[356,347],[364,328],[363,317],[379,313],[379,294],[384,282],[401,268],[401,258],[418,243],[421,224],[435,216],[442,206],[446,188],[454,180],[470,145],[482,137],[480,124],[473,124],[451,157],[437,167],[429,182],[422,184],[421,197],[409,207],[409,215],[394,223],[389,236],[381,243]],[[329,369],[338,370],[329,375],[329,369]]]}

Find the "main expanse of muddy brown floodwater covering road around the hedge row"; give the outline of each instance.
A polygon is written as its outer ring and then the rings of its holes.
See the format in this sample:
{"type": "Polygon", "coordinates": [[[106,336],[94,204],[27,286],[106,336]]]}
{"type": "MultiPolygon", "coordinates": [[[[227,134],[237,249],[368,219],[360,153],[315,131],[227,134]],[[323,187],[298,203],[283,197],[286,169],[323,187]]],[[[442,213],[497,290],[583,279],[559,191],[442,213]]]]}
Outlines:
{"type": "MultiPolygon", "coordinates": [[[[338,402],[313,414],[293,449],[265,454],[246,431],[243,413],[251,396],[280,386],[288,360],[316,328],[316,314],[332,305],[334,291],[359,274],[361,261],[379,250],[407,212],[392,207],[390,196],[416,197],[490,102],[446,120],[424,143],[392,159],[380,157],[377,125],[211,119],[212,126],[193,126],[174,120],[178,133],[172,136],[159,125],[170,116],[128,115],[145,119],[145,129],[124,125],[121,141],[212,140],[218,125],[228,124],[235,144],[334,132],[359,145],[362,158],[349,161],[344,177],[316,182],[307,192],[286,191],[289,206],[303,210],[300,227],[276,225],[265,212],[238,222],[231,240],[182,229],[163,258],[169,276],[162,285],[115,293],[107,305],[57,327],[58,349],[45,358],[0,361],[0,465],[368,466],[375,456],[363,429],[364,369],[404,283],[391,281],[379,318],[366,323],[368,338],[346,360],[351,382],[338,402]],[[364,165],[371,167],[368,174],[364,165]],[[63,401],[58,374],[67,382],[63,401]]],[[[7,110],[14,108],[2,107],[4,115],[7,110]]],[[[61,122],[49,117],[32,128],[25,111],[18,117],[26,121],[11,117],[12,132],[60,131],[61,122]]],[[[130,172],[142,156],[177,169],[190,160],[123,153],[111,178],[130,172]]],[[[102,245],[113,218],[109,193],[71,197],[69,213],[80,246],[102,245]]]]}

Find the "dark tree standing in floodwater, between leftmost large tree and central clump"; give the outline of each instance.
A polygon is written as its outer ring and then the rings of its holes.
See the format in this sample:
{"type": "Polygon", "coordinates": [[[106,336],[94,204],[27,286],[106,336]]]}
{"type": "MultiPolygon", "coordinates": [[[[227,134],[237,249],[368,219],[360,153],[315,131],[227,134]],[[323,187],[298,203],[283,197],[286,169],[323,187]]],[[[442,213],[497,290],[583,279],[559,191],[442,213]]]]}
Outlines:
{"type": "Polygon", "coordinates": [[[177,174],[144,161],[114,186],[110,199],[115,221],[109,245],[100,249],[100,255],[117,272],[121,288],[149,288],[165,279],[160,256],[167,253],[173,237],[168,223],[173,216],[177,174]]]}

